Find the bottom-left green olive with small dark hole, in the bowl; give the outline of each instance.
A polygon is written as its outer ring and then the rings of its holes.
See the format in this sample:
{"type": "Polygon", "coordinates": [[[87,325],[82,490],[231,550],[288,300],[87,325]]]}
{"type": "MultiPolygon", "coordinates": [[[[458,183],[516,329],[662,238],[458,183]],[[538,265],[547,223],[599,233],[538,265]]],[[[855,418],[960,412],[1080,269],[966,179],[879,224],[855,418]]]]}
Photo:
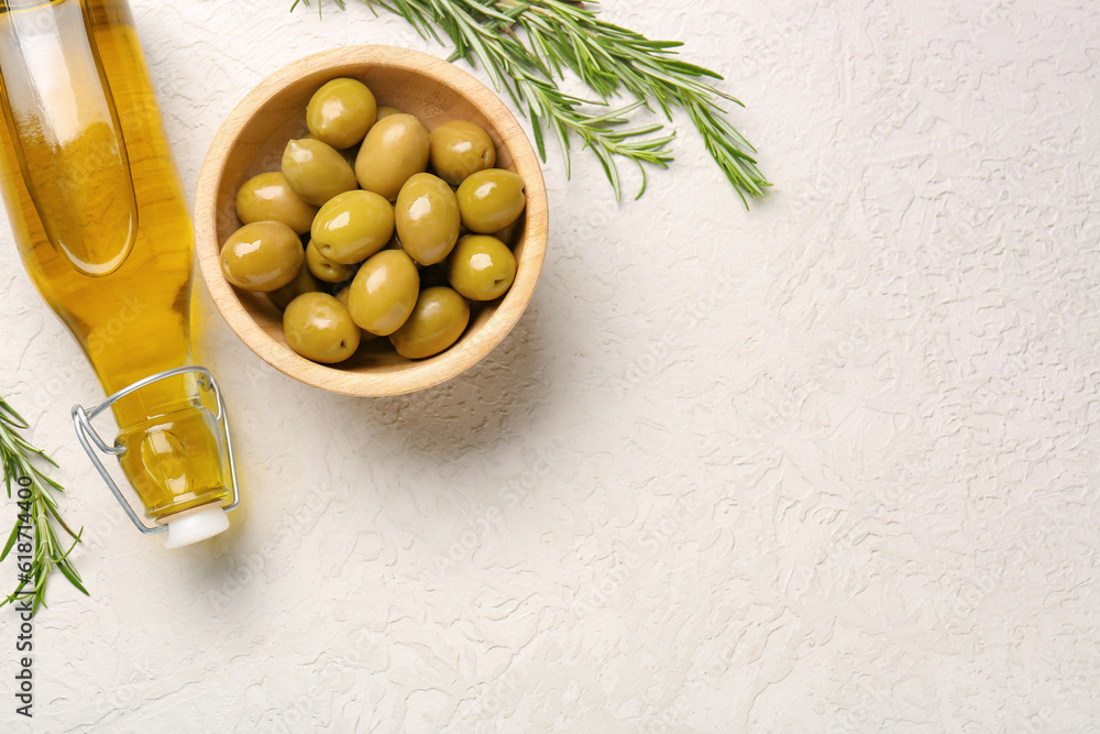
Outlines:
{"type": "Polygon", "coordinates": [[[342,362],[359,349],[360,331],[348,308],[327,293],[305,293],[283,311],[290,349],[324,364],[342,362]]]}

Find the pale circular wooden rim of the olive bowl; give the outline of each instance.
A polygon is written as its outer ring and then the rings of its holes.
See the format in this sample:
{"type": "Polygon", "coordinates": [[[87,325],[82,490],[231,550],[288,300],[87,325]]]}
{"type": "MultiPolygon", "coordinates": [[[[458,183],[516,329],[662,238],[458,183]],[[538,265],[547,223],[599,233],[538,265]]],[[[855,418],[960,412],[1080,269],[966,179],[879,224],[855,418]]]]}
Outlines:
{"type": "MultiPolygon", "coordinates": [[[[354,76],[353,73],[348,73],[354,76]]],[[[219,313],[230,329],[261,359],[284,374],[308,385],[343,395],[382,397],[403,395],[441,384],[485,358],[519,320],[534,295],[542,270],[548,233],[546,184],[535,149],[512,110],[488,87],[458,66],[430,54],[387,45],[343,46],[304,56],[265,77],[239,101],[222,122],[199,169],[195,194],[195,244],[199,271],[219,313]],[[409,361],[399,370],[371,374],[319,364],[294,352],[264,331],[224,278],[218,241],[218,193],[227,160],[255,111],[306,74],[369,64],[372,67],[414,73],[451,88],[493,120],[522,177],[527,209],[524,251],[512,288],[495,311],[473,335],[427,360],[409,361]]]]}

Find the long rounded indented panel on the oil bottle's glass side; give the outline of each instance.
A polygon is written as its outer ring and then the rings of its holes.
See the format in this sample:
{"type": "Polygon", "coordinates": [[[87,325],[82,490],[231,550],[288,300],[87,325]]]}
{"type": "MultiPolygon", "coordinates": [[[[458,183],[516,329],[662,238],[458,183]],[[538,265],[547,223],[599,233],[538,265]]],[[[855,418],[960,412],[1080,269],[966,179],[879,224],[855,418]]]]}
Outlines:
{"type": "Polygon", "coordinates": [[[138,208],[107,77],[78,0],[0,14],[0,100],[45,234],[84,275],[133,249],[138,208]]]}

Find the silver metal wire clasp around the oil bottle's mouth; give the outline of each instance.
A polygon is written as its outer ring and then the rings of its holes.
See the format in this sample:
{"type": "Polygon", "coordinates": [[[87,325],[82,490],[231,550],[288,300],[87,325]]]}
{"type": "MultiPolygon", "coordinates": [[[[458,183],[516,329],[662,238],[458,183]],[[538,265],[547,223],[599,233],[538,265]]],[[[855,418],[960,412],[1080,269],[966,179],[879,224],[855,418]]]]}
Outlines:
{"type": "Polygon", "coordinates": [[[168,526],[154,525],[150,527],[141,522],[138,513],[134,512],[133,506],[131,506],[130,502],[127,501],[125,496],[122,494],[122,490],[119,489],[119,485],[116,483],[110,472],[108,472],[107,468],[103,467],[103,462],[100,461],[99,456],[96,453],[96,450],[91,445],[95,443],[96,449],[116,458],[121,458],[122,454],[127,452],[127,449],[124,446],[120,446],[118,443],[108,446],[107,441],[105,441],[99,435],[99,431],[97,431],[91,425],[91,421],[95,420],[99,414],[114,405],[116,402],[131,393],[134,393],[143,387],[147,387],[148,385],[160,382],[161,380],[167,380],[168,377],[175,377],[177,375],[191,372],[199,375],[198,383],[200,387],[213,391],[215,403],[218,407],[218,412],[215,414],[215,420],[221,428],[221,437],[226,445],[226,456],[229,460],[229,473],[232,482],[233,501],[230,504],[224,505],[222,510],[224,512],[232,512],[233,510],[237,510],[238,505],[241,504],[241,494],[238,491],[237,485],[237,462],[233,460],[233,440],[229,434],[229,415],[226,413],[226,402],[221,397],[221,390],[218,387],[218,381],[213,379],[213,375],[210,374],[210,371],[206,368],[182,366],[165,370],[164,372],[157,372],[156,374],[152,374],[144,380],[139,380],[128,387],[123,387],[90,410],[85,410],[84,406],[80,405],[73,406],[73,425],[76,428],[76,437],[79,439],[80,446],[84,447],[88,458],[91,459],[91,462],[99,471],[99,475],[103,478],[105,482],[107,482],[107,486],[110,487],[111,492],[114,494],[114,499],[119,501],[120,505],[122,505],[122,510],[124,510],[127,515],[130,516],[131,522],[133,522],[134,526],[145,535],[164,533],[168,529],[168,526]]]}

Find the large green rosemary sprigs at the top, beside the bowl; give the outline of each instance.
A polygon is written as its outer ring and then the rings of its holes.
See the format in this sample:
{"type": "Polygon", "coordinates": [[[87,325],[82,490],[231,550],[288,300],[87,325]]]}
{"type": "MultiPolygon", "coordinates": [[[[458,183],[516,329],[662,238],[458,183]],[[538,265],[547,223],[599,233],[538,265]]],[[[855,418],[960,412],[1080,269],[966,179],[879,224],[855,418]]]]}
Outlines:
{"type": "MultiPolygon", "coordinates": [[[[761,198],[770,186],[752,157],[755,149],[726,119],[723,106],[740,102],[710,84],[722,77],[678,59],[673,50],[683,45],[679,42],[651,41],[602,20],[593,0],[361,1],[402,15],[422,37],[442,43],[442,31],[454,46],[450,61],[480,64],[497,90],[505,90],[530,117],[543,161],[543,128],[552,131],[566,175],[572,134],[598,157],[616,197],[622,197],[616,160],[637,163],[642,173],[640,197],[646,190],[644,164],[666,168],[672,162],[669,145],[674,133],[661,123],[629,127],[631,112],[656,106],[670,121],[674,109],[688,113],[746,206],[746,197],[761,198]],[[565,72],[575,74],[598,99],[563,92],[556,79],[563,79],[565,72]],[[598,109],[624,91],[637,101],[622,109],[598,109]]],[[[309,0],[294,0],[292,9],[299,2],[309,0]]],[[[336,3],[343,9],[345,0],[336,3]]]]}

